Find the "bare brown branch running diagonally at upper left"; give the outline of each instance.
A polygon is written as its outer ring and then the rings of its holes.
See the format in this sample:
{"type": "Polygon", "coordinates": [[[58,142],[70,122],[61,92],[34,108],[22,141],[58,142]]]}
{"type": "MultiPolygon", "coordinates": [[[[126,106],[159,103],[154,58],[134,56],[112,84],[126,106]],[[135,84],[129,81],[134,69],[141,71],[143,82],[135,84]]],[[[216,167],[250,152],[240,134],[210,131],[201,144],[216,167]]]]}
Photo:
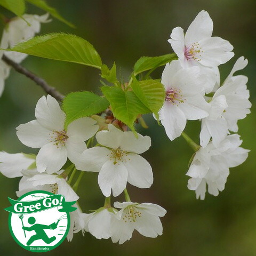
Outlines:
{"type": "Polygon", "coordinates": [[[49,84],[46,83],[46,81],[33,74],[31,71],[28,69],[22,67],[20,64],[16,63],[15,61],[9,59],[5,55],[3,55],[2,60],[9,66],[11,66],[14,70],[19,72],[22,75],[27,76],[31,80],[33,80],[37,85],[41,86],[42,89],[47,93],[50,94],[53,98],[57,99],[58,101],[63,100],[64,95],[62,95],[60,92],[58,92],[54,87],[50,86],[49,84]]]}

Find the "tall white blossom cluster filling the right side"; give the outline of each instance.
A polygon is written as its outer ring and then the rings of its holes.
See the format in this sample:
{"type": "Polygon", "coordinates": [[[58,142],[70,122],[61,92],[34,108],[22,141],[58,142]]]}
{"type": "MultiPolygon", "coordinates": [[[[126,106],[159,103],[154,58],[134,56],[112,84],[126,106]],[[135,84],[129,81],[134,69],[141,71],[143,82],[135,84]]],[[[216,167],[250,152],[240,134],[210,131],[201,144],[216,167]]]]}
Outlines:
{"type": "Polygon", "coordinates": [[[159,118],[170,140],[179,137],[187,120],[200,120],[200,148],[187,175],[188,188],[204,199],[206,184],[209,194],[217,196],[225,188],[229,167],[242,164],[249,150],[241,148],[237,121],[250,113],[251,102],[247,77],[234,76],[247,65],[238,58],[228,77],[220,85],[218,66],[229,61],[233,46],[213,37],[209,13],[201,11],[186,34],[181,27],[172,30],[169,43],[178,60],[167,63],[162,83],[166,97],[159,118]]]}

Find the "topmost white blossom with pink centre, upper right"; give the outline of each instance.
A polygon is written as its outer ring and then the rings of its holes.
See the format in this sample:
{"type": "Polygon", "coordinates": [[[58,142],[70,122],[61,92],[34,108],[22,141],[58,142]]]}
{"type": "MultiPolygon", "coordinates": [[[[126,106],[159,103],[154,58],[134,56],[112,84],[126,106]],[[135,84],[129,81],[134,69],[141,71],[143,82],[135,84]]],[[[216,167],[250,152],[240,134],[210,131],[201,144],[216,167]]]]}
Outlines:
{"type": "Polygon", "coordinates": [[[212,37],[213,22],[209,13],[201,11],[190,24],[186,35],[181,27],[172,30],[168,42],[178,55],[183,67],[203,65],[215,67],[233,56],[233,46],[220,37],[212,37]]]}

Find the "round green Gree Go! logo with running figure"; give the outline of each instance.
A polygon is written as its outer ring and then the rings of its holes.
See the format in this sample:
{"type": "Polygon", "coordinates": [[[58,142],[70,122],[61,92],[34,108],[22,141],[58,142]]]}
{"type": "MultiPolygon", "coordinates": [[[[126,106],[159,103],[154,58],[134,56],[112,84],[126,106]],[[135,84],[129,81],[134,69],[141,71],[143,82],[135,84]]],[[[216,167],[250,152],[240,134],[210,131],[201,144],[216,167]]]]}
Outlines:
{"type": "Polygon", "coordinates": [[[68,235],[69,212],[75,202],[63,195],[36,190],[13,200],[9,211],[9,229],[14,240],[31,252],[47,252],[59,246],[68,235]]]}

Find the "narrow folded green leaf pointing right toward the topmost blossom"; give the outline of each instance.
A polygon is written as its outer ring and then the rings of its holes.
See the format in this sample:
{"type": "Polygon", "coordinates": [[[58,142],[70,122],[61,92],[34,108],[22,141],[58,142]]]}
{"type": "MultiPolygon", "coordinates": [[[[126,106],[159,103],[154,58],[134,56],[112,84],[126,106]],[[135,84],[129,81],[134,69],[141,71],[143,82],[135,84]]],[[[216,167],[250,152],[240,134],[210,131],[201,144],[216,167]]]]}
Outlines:
{"type": "Polygon", "coordinates": [[[156,69],[157,67],[163,66],[172,60],[178,59],[175,53],[165,54],[158,57],[141,57],[134,65],[134,75],[150,70],[156,69]]]}

